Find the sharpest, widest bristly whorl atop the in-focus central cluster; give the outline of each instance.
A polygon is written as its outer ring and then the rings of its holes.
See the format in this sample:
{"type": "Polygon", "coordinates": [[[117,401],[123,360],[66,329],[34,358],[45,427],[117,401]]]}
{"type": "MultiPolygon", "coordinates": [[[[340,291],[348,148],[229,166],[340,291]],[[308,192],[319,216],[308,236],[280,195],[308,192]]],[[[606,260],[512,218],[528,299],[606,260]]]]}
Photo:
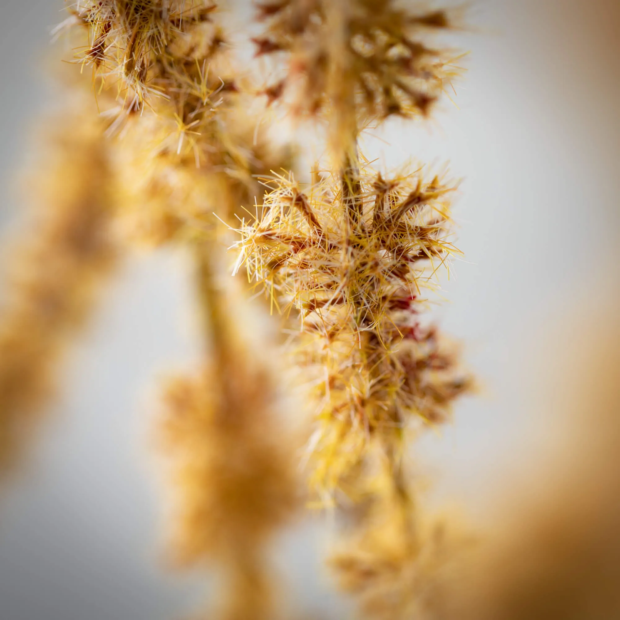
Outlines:
{"type": "Polygon", "coordinates": [[[431,282],[427,261],[458,253],[448,230],[455,187],[422,170],[388,181],[329,176],[305,190],[292,175],[268,184],[259,223],[242,227],[240,262],[331,339],[398,332],[431,282]]]}

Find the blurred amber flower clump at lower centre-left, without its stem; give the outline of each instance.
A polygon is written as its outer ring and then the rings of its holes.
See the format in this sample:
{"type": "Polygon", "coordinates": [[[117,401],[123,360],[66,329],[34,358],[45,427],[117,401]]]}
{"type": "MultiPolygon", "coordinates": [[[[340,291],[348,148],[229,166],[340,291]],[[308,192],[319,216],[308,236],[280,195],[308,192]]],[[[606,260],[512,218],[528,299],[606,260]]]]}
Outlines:
{"type": "Polygon", "coordinates": [[[218,371],[178,378],[165,394],[163,437],[172,463],[180,562],[233,561],[262,547],[293,509],[296,490],[286,446],[270,426],[267,377],[238,360],[224,395],[218,371]]]}

